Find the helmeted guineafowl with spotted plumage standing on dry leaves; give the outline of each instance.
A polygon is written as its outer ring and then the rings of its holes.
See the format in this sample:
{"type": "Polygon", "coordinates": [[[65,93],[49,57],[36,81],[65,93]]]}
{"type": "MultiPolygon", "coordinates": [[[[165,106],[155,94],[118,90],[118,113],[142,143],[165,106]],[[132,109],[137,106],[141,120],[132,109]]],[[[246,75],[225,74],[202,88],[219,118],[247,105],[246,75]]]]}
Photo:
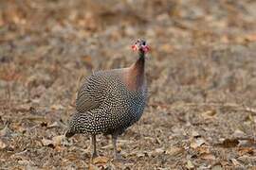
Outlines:
{"type": "Polygon", "coordinates": [[[141,117],[146,106],[148,86],[145,59],[150,48],[145,40],[137,39],[132,45],[137,60],[129,67],[94,72],[82,83],[64,136],[75,134],[91,136],[91,159],[99,157],[96,135],[111,135],[114,159],[121,159],[117,140],[126,128],[141,117]]]}

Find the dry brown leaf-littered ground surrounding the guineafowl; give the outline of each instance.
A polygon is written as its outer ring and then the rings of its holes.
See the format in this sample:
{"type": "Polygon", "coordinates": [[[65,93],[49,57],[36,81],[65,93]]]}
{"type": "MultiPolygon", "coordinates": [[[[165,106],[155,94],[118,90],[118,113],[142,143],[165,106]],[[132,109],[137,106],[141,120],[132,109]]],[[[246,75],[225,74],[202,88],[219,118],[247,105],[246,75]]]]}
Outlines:
{"type": "Polygon", "coordinates": [[[0,1],[0,169],[255,169],[256,1],[0,1]],[[64,140],[82,77],[151,46],[148,105],[89,162],[64,140]]]}

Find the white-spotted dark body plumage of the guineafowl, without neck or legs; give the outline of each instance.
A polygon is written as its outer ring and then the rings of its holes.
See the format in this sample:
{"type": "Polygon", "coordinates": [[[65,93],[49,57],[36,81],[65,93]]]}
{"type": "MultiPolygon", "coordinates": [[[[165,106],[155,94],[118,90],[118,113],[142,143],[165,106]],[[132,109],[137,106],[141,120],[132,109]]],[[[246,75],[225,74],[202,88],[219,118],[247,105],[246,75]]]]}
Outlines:
{"type": "Polygon", "coordinates": [[[129,90],[123,80],[125,71],[129,69],[100,71],[86,79],[78,93],[70,133],[120,134],[137,122],[146,104],[146,82],[140,91],[129,90]]]}

